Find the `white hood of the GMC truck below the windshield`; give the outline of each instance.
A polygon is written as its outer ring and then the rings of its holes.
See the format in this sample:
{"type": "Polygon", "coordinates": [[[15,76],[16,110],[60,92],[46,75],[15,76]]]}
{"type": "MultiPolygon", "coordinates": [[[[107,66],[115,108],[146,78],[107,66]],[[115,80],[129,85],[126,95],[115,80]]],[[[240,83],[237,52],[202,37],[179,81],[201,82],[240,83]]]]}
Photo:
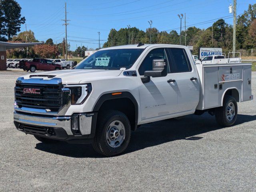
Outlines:
{"type": "Polygon", "coordinates": [[[33,73],[23,76],[24,79],[32,78],[44,78],[49,80],[48,77],[40,77],[40,75],[50,75],[54,78],[61,78],[63,84],[78,84],[82,82],[90,82],[90,80],[96,80],[99,78],[115,77],[121,74],[122,70],[85,70],[85,69],[72,69],[72,70],[58,70],[58,71],[49,71],[42,73],[33,73]],[[33,75],[34,77],[30,78],[29,76],[33,75]]]}

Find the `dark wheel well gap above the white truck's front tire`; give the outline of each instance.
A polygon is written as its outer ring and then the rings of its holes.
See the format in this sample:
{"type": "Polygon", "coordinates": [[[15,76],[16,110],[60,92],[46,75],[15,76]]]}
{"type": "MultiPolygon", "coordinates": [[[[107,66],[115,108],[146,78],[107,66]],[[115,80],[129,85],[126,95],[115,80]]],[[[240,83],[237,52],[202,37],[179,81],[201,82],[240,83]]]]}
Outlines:
{"type": "Polygon", "coordinates": [[[104,114],[107,110],[118,110],[123,112],[128,117],[132,130],[136,130],[136,109],[134,103],[129,98],[115,98],[104,101],[98,110],[98,116],[104,114]]]}

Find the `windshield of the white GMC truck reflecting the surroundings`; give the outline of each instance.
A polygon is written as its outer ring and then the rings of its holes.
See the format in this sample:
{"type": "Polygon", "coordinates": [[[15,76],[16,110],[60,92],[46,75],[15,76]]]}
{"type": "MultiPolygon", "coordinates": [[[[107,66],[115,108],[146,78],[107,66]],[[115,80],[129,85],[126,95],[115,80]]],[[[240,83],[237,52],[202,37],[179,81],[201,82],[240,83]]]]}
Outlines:
{"type": "Polygon", "coordinates": [[[100,50],[81,61],[74,69],[120,70],[131,68],[144,49],[100,50]]]}

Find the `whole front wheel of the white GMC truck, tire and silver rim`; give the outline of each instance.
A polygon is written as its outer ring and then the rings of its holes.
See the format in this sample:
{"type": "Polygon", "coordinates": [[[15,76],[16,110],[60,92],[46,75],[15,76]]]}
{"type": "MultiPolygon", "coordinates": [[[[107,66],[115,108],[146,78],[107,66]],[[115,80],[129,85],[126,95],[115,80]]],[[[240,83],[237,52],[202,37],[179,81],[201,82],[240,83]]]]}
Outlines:
{"type": "Polygon", "coordinates": [[[126,150],[131,137],[131,125],[127,116],[116,110],[100,114],[96,127],[93,148],[105,156],[121,154],[126,150]]]}

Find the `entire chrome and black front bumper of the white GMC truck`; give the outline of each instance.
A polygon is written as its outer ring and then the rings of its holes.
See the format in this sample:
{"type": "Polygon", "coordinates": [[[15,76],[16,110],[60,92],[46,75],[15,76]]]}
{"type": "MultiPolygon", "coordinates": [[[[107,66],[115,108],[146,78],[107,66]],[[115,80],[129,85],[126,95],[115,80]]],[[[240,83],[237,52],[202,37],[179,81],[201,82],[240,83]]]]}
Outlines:
{"type": "Polygon", "coordinates": [[[91,143],[95,134],[96,113],[78,116],[78,133],[72,130],[73,116],[46,116],[14,112],[14,125],[26,134],[62,140],[69,143],[91,143]]]}

